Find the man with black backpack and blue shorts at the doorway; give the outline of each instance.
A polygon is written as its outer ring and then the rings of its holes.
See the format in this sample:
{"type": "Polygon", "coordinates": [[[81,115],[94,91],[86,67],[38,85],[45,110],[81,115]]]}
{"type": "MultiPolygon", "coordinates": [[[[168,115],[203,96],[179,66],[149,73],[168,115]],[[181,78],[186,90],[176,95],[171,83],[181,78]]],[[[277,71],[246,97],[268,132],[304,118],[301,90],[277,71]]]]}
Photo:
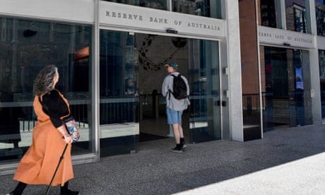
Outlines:
{"type": "MultiPolygon", "coordinates": [[[[175,62],[170,62],[166,64],[168,75],[165,77],[162,83],[161,93],[166,98],[166,114],[167,114],[167,123],[172,125],[172,131],[174,132],[176,147],[172,148],[172,151],[175,153],[182,153],[184,148],[184,134],[182,128],[182,114],[183,110],[187,109],[189,105],[189,83],[187,78],[180,76],[184,85],[186,85],[186,94],[182,97],[180,95],[175,95],[175,85],[177,76],[178,65],[175,62]]],[[[182,93],[182,92],[180,92],[182,93]]]]}

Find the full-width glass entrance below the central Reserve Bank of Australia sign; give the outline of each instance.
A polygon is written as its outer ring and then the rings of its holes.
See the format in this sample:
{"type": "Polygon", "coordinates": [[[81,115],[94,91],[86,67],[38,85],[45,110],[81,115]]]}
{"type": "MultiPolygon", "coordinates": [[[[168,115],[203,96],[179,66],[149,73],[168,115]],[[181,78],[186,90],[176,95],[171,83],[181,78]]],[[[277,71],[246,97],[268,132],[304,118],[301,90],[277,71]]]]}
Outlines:
{"type": "Polygon", "coordinates": [[[182,126],[189,143],[221,138],[217,41],[100,30],[100,154],[135,150],[172,136],[165,114],[165,64],[175,61],[190,85],[182,126]]]}

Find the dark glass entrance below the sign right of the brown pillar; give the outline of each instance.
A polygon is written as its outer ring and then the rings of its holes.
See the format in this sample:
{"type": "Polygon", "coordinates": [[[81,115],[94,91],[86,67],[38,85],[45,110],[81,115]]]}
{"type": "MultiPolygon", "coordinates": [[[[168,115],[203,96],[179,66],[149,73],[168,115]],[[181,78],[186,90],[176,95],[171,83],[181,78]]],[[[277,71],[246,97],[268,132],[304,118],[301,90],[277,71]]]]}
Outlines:
{"type": "Polygon", "coordinates": [[[261,47],[264,131],[312,124],[309,52],[261,47]]]}

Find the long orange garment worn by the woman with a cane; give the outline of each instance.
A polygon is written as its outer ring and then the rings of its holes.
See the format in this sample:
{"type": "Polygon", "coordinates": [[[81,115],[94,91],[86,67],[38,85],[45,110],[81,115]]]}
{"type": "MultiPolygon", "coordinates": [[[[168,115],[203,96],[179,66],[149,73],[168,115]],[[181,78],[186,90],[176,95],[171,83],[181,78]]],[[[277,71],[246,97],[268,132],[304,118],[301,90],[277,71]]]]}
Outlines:
{"type": "MultiPolygon", "coordinates": [[[[59,94],[61,95],[61,93],[59,94]]],[[[66,98],[63,95],[61,97],[69,107],[69,102],[66,98]]],[[[62,134],[50,121],[49,116],[43,112],[38,96],[35,96],[33,107],[37,115],[37,123],[32,131],[32,145],[20,160],[13,179],[26,184],[48,185],[57,168],[66,143],[62,138],[62,134]]],[[[72,178],[71,144],[69,144],[54,177],[52,186],[57,186],[58,184],[63,186],[65,182],[72,178]]]]}

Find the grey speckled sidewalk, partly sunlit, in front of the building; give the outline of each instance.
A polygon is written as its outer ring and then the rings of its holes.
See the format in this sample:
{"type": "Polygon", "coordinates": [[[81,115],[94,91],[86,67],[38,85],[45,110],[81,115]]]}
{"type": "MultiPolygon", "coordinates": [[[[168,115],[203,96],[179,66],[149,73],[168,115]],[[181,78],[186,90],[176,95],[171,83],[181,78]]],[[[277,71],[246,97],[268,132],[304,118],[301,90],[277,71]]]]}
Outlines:
{"type": "MultiPolygon", "coordinates": [[[[80,194],[325,194],[325,125],[276,129],[263,139],[188,144],[173,138],[140,143],[137,153],[74,166],[80,194]]],[[[1,176],[0,194],[15,186],[1,176]]],[[[44,194],[28,186],[25,194],[44,194]]],[[[50,194],[59,194],[52,187],[50,194]]]]}

